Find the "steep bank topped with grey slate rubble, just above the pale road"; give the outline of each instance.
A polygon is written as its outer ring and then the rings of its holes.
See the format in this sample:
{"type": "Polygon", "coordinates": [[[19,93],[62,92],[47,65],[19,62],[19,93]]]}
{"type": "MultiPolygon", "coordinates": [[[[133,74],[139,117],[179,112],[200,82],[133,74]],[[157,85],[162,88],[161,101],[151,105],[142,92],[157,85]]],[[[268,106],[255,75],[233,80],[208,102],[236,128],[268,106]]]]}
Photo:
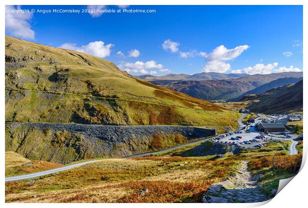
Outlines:
{"type": "Polygon", "coordinates": [[[189,140],[215,135],[215,130],[189,126],[6,122],[5,150],[17,152],[31,160],[68,163],[84,158],[151,152],[154,138],[172,139],[174,134],[189,140]]]}

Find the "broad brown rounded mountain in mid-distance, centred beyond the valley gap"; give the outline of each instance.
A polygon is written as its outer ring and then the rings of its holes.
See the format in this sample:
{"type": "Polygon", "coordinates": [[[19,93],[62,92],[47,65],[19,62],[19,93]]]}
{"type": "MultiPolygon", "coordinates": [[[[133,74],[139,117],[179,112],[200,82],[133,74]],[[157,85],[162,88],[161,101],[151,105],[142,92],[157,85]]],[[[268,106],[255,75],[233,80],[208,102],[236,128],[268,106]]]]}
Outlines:
{"type": "Polygon", "coordinates": [[[235,80],[187,80],[167,85],[169,89],[208,101],[226,101],[254,89],[249,82],[235,80]]]}

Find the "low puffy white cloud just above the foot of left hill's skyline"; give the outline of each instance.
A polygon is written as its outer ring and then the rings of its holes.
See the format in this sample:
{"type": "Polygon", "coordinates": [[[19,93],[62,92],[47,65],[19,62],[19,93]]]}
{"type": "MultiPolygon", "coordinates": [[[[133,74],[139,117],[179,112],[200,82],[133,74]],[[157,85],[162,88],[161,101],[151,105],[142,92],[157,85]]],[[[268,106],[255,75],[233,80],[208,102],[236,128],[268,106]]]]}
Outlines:
{"type": "Polygon", "coordinates": [[[148,71],[149,69],[159,69],[159,71],[168,70],[168,69],[165,69],[162,64],[157,64],[156,61],[154,60],[147,61],[147,62],[136,61],[135,63],[124,63],[124,64],[120,64],[119,68],[129,73],[133,72],[133,73],[142,73],[142,74],[157,73],[154,70],[149,72],[148,71]]]}

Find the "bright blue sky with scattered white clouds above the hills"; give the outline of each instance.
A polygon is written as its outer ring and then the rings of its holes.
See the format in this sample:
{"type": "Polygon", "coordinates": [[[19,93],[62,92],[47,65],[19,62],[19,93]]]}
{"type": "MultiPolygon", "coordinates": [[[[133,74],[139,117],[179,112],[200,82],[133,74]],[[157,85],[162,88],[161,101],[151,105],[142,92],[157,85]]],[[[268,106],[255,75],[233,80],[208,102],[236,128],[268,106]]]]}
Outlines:
{"type": "Polygon", "coordinates": [[[303,70],[301,5],[7,5],[5,35],[133,75],[303,70]]]}

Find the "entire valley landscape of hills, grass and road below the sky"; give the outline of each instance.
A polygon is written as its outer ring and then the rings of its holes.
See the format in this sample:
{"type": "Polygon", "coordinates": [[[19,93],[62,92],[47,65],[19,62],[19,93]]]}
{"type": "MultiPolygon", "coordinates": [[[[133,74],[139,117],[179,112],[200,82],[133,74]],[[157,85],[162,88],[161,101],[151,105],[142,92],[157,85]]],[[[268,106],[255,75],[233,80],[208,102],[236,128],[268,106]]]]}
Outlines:
{"type": "Polygon", "coordinates": [[[303,111],[302,79],[302,72],[133,77],[102,58],[6,36],[5,202],[271,199],[279,180],[299,171],[301,130],[291,122],[282,133],[291,139],[271,134],[249,144],[261,131],[248,120],[303,111]],[[243,144],[232,144],[233,134],[243,144]],[[291,170],[276,158],[291,161],[291,170]],[[217,184],[219,193],[209,194],[217,184]],[[249,187],[258,197],[233,199],[249,187]]]}

